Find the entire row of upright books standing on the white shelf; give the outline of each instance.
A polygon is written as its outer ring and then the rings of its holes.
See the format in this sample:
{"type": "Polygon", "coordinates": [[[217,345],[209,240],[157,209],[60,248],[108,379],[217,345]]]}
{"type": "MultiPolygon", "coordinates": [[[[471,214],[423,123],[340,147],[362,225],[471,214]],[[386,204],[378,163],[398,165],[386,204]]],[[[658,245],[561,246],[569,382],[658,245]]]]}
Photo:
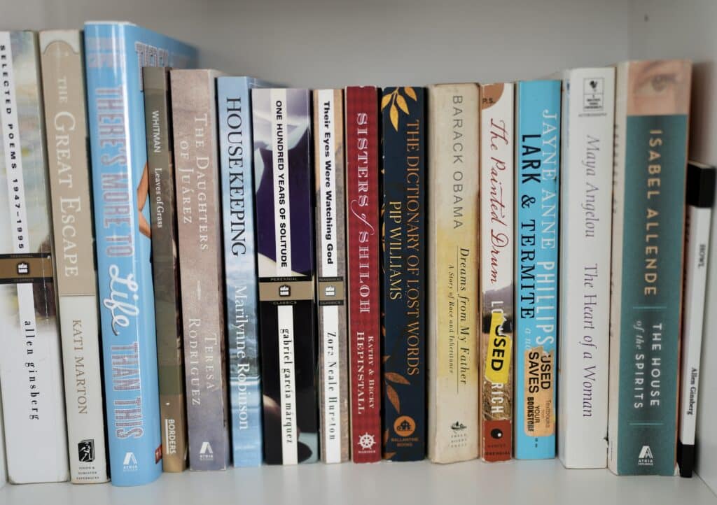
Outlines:
{"type": "Polygon", "coordinates": [[[0,32],[2,62],[11,481],[672,475],[678,402],[691,472],[715,180],[685,170],[689,62],[295,90],[117,23],[0,32]]]}

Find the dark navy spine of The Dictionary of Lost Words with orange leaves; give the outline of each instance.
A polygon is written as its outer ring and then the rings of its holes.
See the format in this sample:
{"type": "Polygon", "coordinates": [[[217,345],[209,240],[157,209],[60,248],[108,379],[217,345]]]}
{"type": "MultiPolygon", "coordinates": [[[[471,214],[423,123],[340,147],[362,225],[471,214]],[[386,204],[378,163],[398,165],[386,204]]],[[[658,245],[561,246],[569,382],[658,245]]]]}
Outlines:
{"type": "Polygon", "coordinates": [[[426,453],[424,107],[423,88],[383,90],[383,449],[394,461],[426,453]]]}

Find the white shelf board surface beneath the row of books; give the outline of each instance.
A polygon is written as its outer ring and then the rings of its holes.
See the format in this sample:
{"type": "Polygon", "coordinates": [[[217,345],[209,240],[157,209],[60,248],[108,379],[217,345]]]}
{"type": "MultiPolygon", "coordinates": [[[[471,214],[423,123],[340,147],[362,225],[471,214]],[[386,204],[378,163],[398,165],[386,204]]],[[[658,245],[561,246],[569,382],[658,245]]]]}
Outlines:
{"type": "Polygon", "coordinates": [[[452,465],[316,463],[164,473],[147,486],[34,484],[0,489],[0,504],[717,504],[698,477],[625,477],[566,470],[557,460],[452,465]]]}

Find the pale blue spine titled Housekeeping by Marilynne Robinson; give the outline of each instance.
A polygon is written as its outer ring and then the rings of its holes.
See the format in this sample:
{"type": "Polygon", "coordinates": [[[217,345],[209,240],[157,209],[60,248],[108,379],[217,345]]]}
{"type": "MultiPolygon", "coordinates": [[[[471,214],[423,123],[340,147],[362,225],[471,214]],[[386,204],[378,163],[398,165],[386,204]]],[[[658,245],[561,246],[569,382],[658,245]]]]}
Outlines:
{"type": "Polygon", "coordinates": [[[224,222],[229,404],[234,466],[262,464],[252,115],[247,77],[219,77],[219,151],[224,222]]]}

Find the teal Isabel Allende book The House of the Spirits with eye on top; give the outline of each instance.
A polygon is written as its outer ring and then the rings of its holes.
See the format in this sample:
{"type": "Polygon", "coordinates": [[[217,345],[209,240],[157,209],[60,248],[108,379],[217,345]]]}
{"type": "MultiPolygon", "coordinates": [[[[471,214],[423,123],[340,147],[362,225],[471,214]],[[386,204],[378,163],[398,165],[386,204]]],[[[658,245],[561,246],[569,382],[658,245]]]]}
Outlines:
{"type": "Polygon", "coordinates": [[[608,453],[673,475],[691,64],[617,66],[608,453]]]}

